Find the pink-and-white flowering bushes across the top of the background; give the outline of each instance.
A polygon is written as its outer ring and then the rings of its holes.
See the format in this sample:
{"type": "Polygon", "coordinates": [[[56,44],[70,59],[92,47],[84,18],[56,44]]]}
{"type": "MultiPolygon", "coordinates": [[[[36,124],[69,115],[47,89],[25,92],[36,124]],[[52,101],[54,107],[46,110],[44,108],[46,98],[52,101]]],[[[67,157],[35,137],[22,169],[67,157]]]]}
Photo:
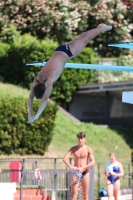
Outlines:
{"type": "Polygon", "coordinates": [[[118,56],[126,51],[108,48],[107,44],[131,39],[131,6],[121,0],[1,0],[0,29],[15,24],[22,34],[48,37],[61,44],[99,23],[107,23],[113,30],[91,41],[90,47],[104,57],[118,56]]]}

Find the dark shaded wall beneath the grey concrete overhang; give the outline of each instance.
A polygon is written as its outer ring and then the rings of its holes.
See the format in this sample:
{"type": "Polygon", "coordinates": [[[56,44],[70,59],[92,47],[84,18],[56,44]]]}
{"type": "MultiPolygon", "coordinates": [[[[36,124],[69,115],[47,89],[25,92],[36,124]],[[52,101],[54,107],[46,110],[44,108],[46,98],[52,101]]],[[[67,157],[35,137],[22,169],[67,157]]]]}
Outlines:
{"type": "Polygon", "coordinates": [[[122,103],[122,91],[75,94],[69,112],[81,121],[133,126],[133,105],[122,103]]]}

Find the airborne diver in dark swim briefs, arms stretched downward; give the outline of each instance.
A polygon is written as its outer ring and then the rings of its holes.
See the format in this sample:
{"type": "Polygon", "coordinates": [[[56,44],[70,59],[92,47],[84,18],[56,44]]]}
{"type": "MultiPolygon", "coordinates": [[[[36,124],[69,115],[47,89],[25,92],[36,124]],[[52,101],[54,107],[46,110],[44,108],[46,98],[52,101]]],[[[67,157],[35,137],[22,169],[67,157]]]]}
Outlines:
{"type": "Polygon", "coordinates": [[[77,39],[65,45],[57,47],[53,56],[48,60],[42,70],[33,81],[28,100],[28,122],[36,121],[46,107],[51,94],[53,83],[60,77],[64,66],[72,57],[77,56],[90,40],[100,33],[111,30],[112,27],[106,24],[99,24],[97,28],[82,33],[77,39]],[[40,106],[36,114],[33,114],[33,99],[41,99],[40,106]]]}

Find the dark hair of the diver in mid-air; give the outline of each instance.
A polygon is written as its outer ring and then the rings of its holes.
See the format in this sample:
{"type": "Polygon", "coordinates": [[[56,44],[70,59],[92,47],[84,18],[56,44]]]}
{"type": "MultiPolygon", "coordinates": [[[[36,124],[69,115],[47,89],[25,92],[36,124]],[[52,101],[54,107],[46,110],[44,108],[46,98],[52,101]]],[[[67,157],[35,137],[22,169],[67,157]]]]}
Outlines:
{"type": "Polygon", "coordinates": [[[34,87],[34,94],[36,99],[41,99],[43,97],[44,92],[45,92],[45,84],[39,83],[34,87]]]}

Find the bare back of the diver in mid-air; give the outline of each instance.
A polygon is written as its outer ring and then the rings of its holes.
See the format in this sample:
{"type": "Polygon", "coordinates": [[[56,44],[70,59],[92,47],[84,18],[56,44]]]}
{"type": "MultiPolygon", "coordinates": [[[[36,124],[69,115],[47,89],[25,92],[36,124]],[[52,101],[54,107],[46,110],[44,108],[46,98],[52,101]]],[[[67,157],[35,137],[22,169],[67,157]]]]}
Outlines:
{"type": "Polygon", "coordinates": [[[68,57],[64,52],[55,52],[39,72],[38,79],[45,80],[50,77],[52,82],[55,82],[62,74],[67,60],[68,57]]]}

